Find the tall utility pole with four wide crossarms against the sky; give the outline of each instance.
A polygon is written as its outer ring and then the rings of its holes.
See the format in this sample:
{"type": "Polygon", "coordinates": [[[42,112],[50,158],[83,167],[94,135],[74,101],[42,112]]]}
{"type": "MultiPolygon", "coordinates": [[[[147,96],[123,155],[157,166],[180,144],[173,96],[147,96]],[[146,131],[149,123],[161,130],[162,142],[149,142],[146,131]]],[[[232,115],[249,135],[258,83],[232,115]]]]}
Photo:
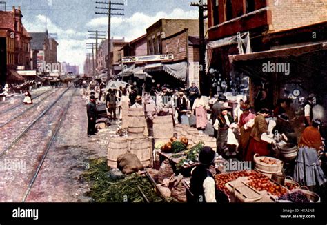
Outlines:
{"type": "Polygon", "coordinates": [[[112,12],[112,10],[123,11],[123,8],[113,8],[112,6],[124,6],[125,3],[108,1],[96,1],[97,4],[106,5],[107,7],[95,7],[96,9],[107,10],[107,12],[95,12],[95,14],[105,14],[108,15],[108,59],[107,59],[107,69],[108,69],[108,80],[111,76],[111,16],[123,16],[123,13],[112,12]]]}

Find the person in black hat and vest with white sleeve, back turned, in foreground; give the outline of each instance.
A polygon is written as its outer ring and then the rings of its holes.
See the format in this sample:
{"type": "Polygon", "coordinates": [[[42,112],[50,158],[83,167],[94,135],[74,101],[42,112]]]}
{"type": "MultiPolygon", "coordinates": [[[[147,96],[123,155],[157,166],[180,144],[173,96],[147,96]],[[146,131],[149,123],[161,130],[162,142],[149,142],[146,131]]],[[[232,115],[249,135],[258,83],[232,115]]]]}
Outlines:
{"type": "Polygon", "coordinates": [[[209,171],[210,166],[215,164],[215,157],[216,153],[210,147],[200,150],[200,165],[192,170],[190,179],[190,192],[194,197],[188,193],[188,202],[228,202],[227,196],[217,190],[215,179],[209,171]]]}

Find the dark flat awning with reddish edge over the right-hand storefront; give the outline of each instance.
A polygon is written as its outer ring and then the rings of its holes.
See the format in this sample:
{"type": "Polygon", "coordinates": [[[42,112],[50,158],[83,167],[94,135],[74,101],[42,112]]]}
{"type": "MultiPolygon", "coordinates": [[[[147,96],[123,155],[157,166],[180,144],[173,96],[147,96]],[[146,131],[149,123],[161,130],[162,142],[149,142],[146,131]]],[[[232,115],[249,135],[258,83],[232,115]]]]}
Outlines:
{"type": "MultiPolygon", "coordinates": [[[[327,81],[327,42],[281,48],[244,55],[230,55],[235,72],[243,72],[249,77],[270,79],[280,74],[279,81],[297,82],[304,77],[327,81]],[[314,78],[315,77],[315,78],[314,78]]],[[[311,82],[315,83],[315,82],[311,82]]]]}

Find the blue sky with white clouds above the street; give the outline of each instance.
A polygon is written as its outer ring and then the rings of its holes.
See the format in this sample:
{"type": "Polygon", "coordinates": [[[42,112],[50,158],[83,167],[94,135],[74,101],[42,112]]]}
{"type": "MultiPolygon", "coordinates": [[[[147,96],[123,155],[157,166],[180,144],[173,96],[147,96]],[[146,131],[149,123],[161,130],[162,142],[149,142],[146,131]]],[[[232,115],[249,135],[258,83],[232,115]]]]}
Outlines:
{"type": "MultiPolygon", "coordinates": [[[[95,1],[106,0],[7,0],[7,10],[21,6],[23,25],[28,32],[57,33],[58,61],[78,65],[83,70],[86,59],[88,30],[108,30],[108,17],[95,14],[95,1]]],[[[140,37],[146,28],[161,18],[197,19],[197,8],[190,6],[192,0],[113,0],[125,3],[115,6],[124,9],[124,16],[112,17],[113,37],[125,37],[126,41],[140,37]]],[[[0,6],[2,7],[2,6],[0,6]]],[[[104,5],[102,6],[104,7],[104,5]]],[[[121,11],[112,11],[120,12],[121,11]]]]}

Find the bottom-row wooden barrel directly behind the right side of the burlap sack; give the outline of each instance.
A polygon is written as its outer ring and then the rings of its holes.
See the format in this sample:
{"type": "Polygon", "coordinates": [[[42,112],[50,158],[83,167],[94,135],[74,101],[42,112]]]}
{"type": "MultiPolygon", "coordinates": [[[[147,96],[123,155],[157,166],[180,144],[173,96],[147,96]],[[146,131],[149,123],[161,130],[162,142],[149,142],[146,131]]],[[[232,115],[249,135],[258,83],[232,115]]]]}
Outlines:
{"type": "Polygon", "coordinates": [[[137,155],[144,167],[150,166],[152,148],[148,138],[135,138],[130,140],[130,153],[137,155]]]}

